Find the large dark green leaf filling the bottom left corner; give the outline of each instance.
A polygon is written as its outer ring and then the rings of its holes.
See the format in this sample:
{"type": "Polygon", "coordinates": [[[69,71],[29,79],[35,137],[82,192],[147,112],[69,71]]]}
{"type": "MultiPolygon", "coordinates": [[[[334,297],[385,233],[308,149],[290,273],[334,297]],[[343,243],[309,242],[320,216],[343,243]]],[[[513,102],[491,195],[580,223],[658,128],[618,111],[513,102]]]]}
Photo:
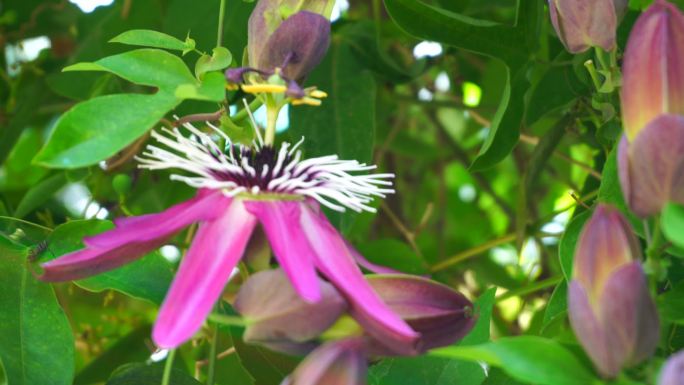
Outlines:
{"type": "Polygon", "coordinates": [[[0,237],[0,359],[11,385],[69,385],[74,337],[52,287],[26,269],[27,250],[0,237]]]}

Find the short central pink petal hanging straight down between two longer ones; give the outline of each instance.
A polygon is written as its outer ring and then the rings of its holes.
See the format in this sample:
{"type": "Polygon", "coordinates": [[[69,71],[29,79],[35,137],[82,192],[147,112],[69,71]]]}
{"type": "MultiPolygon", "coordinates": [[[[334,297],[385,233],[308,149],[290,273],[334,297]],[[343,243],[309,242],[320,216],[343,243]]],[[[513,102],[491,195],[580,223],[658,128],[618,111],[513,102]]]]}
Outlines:
{"type": "Polygon", "coordinates": [[[245,202],[247,211],[263,225],[273,253],[292,286],[302,299],[314,303],[321,299],[321,288],[313,251],[299,224],[299,206],[294,201],[245,202]]]}

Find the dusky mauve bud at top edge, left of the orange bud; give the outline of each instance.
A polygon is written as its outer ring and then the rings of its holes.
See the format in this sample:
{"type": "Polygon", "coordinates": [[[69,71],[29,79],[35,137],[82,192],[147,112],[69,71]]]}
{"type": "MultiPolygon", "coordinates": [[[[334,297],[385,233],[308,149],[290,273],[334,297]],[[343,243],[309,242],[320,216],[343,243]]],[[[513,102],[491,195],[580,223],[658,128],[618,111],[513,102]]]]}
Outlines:
{"type": "Polygon", "coordinates": [[[618,24],[616,7],[623,8],[623,1],[549,0],[551,22],[558,38],[572,53],[594,46],[611,51],[618,24]]]}

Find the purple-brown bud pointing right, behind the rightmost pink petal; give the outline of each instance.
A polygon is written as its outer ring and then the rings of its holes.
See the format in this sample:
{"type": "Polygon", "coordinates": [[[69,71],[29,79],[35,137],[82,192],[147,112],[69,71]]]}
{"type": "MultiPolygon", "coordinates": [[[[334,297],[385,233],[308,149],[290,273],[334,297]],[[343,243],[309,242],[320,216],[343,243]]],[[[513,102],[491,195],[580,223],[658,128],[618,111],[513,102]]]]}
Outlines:
{"type": "MultiPolygon", "coordinates": [[[[455,343],[475,324],[473,304],[461,293],[427,278],[388,274],[368,276],[368,282],[382,300],[420,333],[418,353],[455,343]]],[[[371,339],[374,356],[401,354],[371,339]]]]}

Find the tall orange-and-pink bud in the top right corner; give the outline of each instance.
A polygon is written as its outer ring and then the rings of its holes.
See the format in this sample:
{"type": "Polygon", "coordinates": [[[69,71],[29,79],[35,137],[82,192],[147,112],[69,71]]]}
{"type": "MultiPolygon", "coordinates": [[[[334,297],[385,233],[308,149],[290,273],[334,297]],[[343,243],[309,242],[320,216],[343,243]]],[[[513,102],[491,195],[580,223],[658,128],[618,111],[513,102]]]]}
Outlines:
{"type": "Polygon", "coordinates": [[[684,115],[684,15],[676,6],[656,0],[639,16],[622,72],[622,117],[630,142],[659,115],[684,115]]]}

